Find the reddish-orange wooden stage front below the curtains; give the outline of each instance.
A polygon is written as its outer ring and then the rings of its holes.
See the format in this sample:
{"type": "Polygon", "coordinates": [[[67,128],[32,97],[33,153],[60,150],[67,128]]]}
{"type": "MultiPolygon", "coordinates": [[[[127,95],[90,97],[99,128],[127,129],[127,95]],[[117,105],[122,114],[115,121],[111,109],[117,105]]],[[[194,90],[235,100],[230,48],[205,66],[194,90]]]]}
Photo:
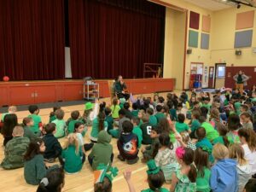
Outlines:
{"type": "MultiPolygon", "coordinates": [[[[94,80],[100,87],[100,97],[110,96],[113,79],[94,80]]],[[[134,95],[174,90],[175,79],[124,79],[134,95]]],[[[80,80],[9,81],[0,83],[0,107],[46,102],[69,102],[83,99],[80,80]]]]}

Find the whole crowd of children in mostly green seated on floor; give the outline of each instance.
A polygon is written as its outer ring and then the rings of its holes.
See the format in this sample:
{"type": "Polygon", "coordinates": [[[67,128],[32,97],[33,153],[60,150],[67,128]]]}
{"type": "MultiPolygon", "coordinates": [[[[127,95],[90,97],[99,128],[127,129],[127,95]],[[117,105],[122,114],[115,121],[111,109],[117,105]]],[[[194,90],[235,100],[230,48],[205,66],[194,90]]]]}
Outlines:
{"type": "MultiPolygon", "coordinates": [[[[106,172],[116,174],[110,143],[114,137],[118,159],[127,164],[137,163],[141,148],[142,162],[148,164],[149,189],[143,191],[250,191],[256,183],[254,91],[247,96],[239,90],[217,91],[215,96],[204,92],[197,96],[192,92],[190,98],[186,92],[180,96],[169,93],[166,100],[154,96],[154,101],[139,96],[132,104],[113,98],[110,108],[106,108],[105,102],[87,102],[83,117],[79,111],[71,113],[67,131],[61,108],[52,113],[52,123],[43,126],[38,107],[30,106],[31,114],[23,119],[23,128],[17,126],[15,112],[9,112],[4,115],[1,129],[5,145],[2,166],[15,156],[17,162],[3,168],[24,165],[26,183],[39,184],[41,190],[50,191],[51,186],[61,190],[61,171],[56,171],[58,166],[45,166],[44,160],[53,162],[58,158],[65,172],[75,173],[82,169],[85,152],[91,150],[88,160],[92,170],[97,172],[98,167],[105,167],[106,172]],[[92,125],[90,140],[95,144],[84,144],[88,125],[92,125]],[[67,137],[63,149],[59,135],[67,137]],[[22,148],[14,144],[17,140],[22,148]],[[54,181],[48,172],[56,172],[60,180],[54,181]],[[46,178],[52,181],[45,182],[46,178]],[[50,182],[55,184],[49,185],[50,182]],[[172,183],[170,190],[162,188],[165,182],[172,183]]],[[[105,174],[95,183],[95,191],[111,191],[110,175],[105,174]]],[[[130,191],[135,191],[131,171],[124,176],[130,191]]]]}

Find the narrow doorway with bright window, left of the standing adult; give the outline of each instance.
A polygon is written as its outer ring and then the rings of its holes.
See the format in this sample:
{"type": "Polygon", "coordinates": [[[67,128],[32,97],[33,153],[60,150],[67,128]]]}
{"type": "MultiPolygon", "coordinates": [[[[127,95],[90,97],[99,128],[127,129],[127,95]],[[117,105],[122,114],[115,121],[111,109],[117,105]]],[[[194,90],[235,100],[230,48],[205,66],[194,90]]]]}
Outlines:
{"type": "Polygon", "coordinates": [[[215,64],[214,88],[220,89],[224,87],[226,74],[226,63],[215,64]]]}

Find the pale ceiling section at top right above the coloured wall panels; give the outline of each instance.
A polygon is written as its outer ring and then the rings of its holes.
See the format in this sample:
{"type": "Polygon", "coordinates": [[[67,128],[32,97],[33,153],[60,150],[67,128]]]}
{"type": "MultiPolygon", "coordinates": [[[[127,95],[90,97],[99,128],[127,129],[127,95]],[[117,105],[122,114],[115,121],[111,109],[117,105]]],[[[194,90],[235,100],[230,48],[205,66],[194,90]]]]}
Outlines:
{"type": "Polygon", "coordinates": [[[222,0],[184,0],[186,2],[197,5],[198,7],[217,11],[221,9],[228,9],[234,6],[233,3],[224,3],[222,0]]]}

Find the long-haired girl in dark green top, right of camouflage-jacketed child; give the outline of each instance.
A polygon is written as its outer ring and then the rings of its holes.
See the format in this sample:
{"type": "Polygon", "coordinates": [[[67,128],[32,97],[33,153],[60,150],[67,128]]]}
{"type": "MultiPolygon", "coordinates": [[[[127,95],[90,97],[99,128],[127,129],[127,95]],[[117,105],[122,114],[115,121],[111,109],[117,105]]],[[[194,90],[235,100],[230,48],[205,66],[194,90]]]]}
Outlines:
{"type": "Polygon", "coordinates": [[[32,185],[38,185],[42,178],[44,178],[47,172],[52,169],[58,168],[59,166],[46,167],[44,165],[44,141],[42,139],[37,139],[29,143],[24,155],[24,177],[26,183],[32,185]]]}

